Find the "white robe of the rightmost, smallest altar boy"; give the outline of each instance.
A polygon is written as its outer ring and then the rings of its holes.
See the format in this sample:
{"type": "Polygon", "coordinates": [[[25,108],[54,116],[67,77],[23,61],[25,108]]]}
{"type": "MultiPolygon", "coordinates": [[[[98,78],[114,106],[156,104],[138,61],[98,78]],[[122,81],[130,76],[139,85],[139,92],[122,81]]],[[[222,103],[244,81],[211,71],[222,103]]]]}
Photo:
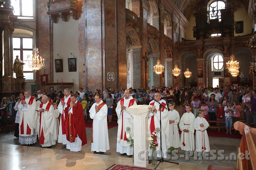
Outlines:
{"type": "Polygon", "coordinates": [[[202,152],[210,151],[210,143],[209,138],[207,134],[207,128],[209,127],[209,123],[205,118],[197,117],[194,120],[194,129],[196,130],[196,151],[202,152]],[[201,127],[200,124],[203,124],[204,126],[201,127]]]}

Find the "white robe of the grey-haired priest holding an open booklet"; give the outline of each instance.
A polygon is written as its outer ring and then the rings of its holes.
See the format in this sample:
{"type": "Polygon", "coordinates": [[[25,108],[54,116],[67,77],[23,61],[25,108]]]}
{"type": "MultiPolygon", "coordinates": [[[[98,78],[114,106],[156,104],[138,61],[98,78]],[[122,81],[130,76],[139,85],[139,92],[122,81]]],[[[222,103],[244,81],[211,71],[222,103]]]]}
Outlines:
{"type": "MultiPolygon", "coordinates": [[[[42,108],[46,109],[47,105],[49,102],[46,104],[43,104],[42,108]]],[[[38,107],[37,109],[39,109],[38,107]]],[[[40,129],[38,131],[38,138],[40,140],[40,136],[42,135],[43,131],[43,136],[44,136],[44,144],[41,144],[42,147],[48,147],[56,144],[57,140],[57,131],[56,131],[56,126],[55,126],[55,117],[54,117],[54,108],[53,105],[50,105],[49,111],[44,110],[41,114],[41,123],[40,123],[40,112],[39,113],[39,121],[38,124],[40,126],[40,129]],[[40,133],[39,133],[40,132],[40,133]]]]}

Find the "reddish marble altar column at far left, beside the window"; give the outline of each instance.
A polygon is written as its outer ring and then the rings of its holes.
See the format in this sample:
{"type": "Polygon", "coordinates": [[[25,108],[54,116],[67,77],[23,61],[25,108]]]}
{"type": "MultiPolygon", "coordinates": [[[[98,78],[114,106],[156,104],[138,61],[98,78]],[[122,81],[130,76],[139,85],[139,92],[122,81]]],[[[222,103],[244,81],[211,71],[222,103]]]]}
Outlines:
{"type": "Polygon", "coordinates": [[[4,76],[10,77],[10,41],[7,24],[4,25],[4,76]]]}

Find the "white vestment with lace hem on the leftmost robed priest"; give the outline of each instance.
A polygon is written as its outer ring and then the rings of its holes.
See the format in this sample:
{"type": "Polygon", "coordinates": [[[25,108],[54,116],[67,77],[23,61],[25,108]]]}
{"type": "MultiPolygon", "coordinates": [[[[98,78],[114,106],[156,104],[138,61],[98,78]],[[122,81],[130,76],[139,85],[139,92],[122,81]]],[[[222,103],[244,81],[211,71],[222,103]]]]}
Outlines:
{"type": "Polygon", "coordinates": [[[33,99],[33,103],[30,105],[28,104],[30,98],[32,96],[25,98],[27,111],[22,109],[24,106],[21,104],[22,101],[18,104],[18,111],[20,113],[20,124],[19,124],[19,142],[23,145],[33,144],[36,143],[37,136],[36,136],[36,128],[37,128],[37,112],[36,109],[36,100],[33,99]],[[22,111],[23,110],[23,111],[22,111]],[[23,130],[24,134],[21,134],[21,125],[23,121],[23,130]],[[27,126],[31,129],[31,131],[27,131],[27,126]]]}

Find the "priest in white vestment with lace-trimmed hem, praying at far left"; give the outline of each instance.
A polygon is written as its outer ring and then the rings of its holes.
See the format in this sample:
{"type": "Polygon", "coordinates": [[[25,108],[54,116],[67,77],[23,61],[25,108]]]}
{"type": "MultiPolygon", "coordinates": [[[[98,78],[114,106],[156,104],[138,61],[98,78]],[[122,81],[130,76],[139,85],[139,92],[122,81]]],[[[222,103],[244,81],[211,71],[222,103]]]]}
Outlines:
{"type": "Polygon", "coordinates": [[[18,100],[18,111],[20,113],[19,142],[21,145],[36,143],[37,135],[37,112],[36,100],[30,96],[29,91],[24,92],[25,98],[18,100]]]}

